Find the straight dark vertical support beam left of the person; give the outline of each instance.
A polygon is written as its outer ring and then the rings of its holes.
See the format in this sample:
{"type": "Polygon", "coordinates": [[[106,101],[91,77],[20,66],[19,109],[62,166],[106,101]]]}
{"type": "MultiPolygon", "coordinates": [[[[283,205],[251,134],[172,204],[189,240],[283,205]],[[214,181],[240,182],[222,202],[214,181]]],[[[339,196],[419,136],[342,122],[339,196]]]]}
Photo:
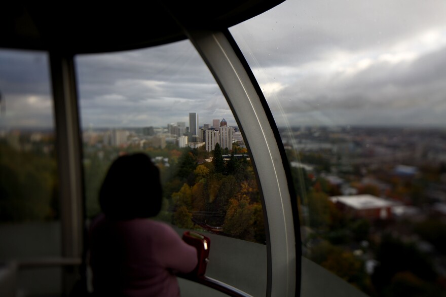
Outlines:
{"type": "MultiPolygon", "coordinates": [[[[62,257],[81,258],[84,236],[83,180],[73,56],[50,52],[50,64],[56,121],[62,257]]],[[[78,279],[79,267],[65,268],[63,276],[65,294],[72,289],[78,279]]]]}

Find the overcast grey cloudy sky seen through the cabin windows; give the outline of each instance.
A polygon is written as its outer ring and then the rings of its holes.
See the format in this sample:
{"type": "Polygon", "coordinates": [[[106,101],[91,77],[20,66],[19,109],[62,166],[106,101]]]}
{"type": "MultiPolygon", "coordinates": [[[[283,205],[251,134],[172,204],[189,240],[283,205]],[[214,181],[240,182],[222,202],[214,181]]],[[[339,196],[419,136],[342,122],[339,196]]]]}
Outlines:
{"type": "MultiPolygon", "coordinates": [[[[279,126],[446,127],[445,16],[443,0],[288,0],[230,31],[279,126]]],[[[76,63],[84,127],[235,125],[189,41],[76,63]]],[[[0,51],[0,128],[52,123],[47,64],[0,51]]]]}

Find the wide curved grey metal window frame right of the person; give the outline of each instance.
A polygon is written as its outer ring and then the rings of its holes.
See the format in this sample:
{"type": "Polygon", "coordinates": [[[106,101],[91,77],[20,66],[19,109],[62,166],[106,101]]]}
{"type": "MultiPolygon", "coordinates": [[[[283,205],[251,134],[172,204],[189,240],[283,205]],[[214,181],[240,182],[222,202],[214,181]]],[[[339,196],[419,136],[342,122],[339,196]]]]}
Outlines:
{"type": "Polygon", "coordinates": [[[266,295],[298,296],[299,217],[295,199],[290,195],[293,191],[290,174],[285,172],[288,167],[283,145],[279,145],[280,135],[266,100],[228,30],[186,30],[186,33],[225,95],[252,155],[263,194],[267,229],[266,295]]]}

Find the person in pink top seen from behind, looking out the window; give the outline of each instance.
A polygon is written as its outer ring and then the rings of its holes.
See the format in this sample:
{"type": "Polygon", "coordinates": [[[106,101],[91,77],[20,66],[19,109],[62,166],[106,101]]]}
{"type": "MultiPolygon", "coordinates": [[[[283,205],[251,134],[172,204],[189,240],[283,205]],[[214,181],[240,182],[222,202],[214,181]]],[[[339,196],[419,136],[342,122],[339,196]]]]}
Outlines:
{"type": "Polygon", "coordinates": [[[179,296],[175,273],[196,267],[197,250],[169,225],[148,218],[161,202],[159,170],[147,155],[113,162],[99,194],[103,213],[90,228],[95,295],[179,296]]]}

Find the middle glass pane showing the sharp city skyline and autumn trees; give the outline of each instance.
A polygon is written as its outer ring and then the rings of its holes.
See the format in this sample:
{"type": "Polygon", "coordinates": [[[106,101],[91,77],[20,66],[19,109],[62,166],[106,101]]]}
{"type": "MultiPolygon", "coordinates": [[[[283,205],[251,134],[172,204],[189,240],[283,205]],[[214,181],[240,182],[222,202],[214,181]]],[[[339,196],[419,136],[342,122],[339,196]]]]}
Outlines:
{"type": "Polygon", "coordinates": [[[98,194],[110,164],[143,152],[161,171],[156,219],[180,235],[196,230],[211,238],[208,276],[264,295],[265,227],[253,167],[229,105],[192,44],[80,55],[76,62],[88,218],[101,211],[98,194]]]}

